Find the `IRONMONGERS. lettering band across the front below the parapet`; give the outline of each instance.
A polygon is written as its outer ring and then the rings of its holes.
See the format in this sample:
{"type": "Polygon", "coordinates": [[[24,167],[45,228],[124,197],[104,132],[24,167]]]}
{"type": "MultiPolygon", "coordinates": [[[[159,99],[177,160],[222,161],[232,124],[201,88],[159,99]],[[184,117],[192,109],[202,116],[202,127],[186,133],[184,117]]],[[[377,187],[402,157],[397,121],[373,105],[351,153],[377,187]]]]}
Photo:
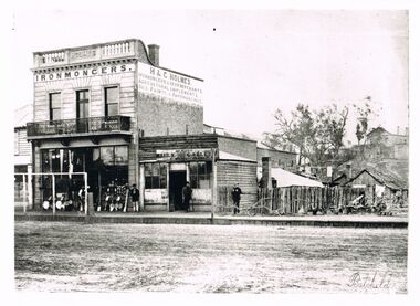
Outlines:
{"type": "Polygon", "coordinates": [[[82,70],[70,70],[70,71],[59,71],[51,73],[42,73],[34,75],[34,82],[46,82],[46,81],[57,81],[67,78],[77,78],[84,76],[96,76],[113,73],[124,73],[135,71],[134,64],[119,64],[109,66],[94,66],[82,70]]]}

